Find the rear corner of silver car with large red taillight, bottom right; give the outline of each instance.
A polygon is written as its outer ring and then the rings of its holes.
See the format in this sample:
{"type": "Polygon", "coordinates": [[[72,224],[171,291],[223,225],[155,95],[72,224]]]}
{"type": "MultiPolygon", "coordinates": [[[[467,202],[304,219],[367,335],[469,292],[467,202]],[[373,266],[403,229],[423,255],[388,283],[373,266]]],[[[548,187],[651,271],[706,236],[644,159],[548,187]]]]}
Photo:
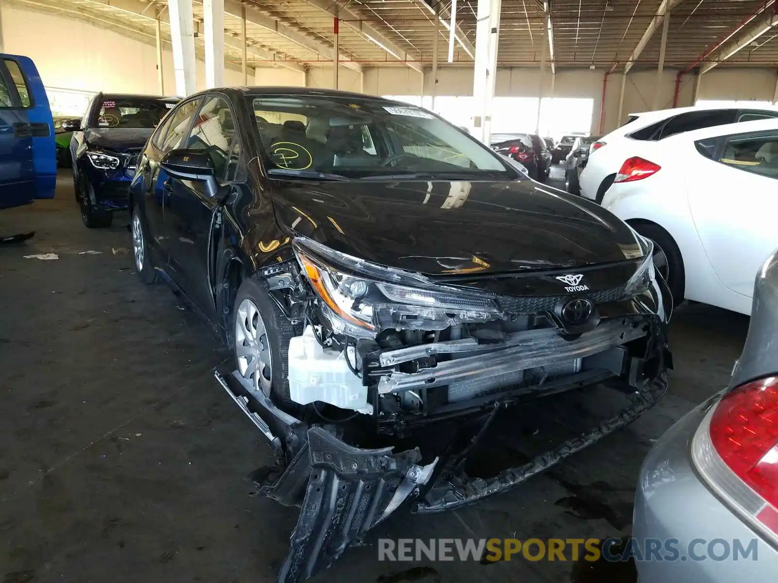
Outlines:
{"type": "Polygon", "coordinates": [[[678,421],[643,462],[633,517],[641,583],[776,580],[776,340],[778,251],[757,275],[729,386],[678,421]]]}

